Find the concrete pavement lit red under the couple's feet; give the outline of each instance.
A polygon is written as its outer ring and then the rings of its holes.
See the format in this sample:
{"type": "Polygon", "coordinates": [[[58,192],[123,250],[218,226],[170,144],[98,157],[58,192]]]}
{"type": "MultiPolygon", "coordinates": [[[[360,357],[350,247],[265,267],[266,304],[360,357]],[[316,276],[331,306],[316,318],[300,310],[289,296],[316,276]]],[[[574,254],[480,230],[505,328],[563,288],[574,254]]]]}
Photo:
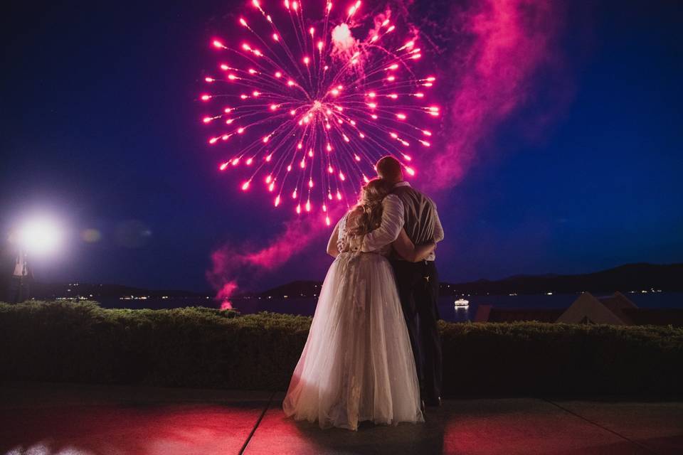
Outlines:
{"type": "Polygon", "coordinates": [[[683,402],[446,400],[428,422],[321,430],[282,393],[3,384],[0,454],[683,454],[683,402]]]}

